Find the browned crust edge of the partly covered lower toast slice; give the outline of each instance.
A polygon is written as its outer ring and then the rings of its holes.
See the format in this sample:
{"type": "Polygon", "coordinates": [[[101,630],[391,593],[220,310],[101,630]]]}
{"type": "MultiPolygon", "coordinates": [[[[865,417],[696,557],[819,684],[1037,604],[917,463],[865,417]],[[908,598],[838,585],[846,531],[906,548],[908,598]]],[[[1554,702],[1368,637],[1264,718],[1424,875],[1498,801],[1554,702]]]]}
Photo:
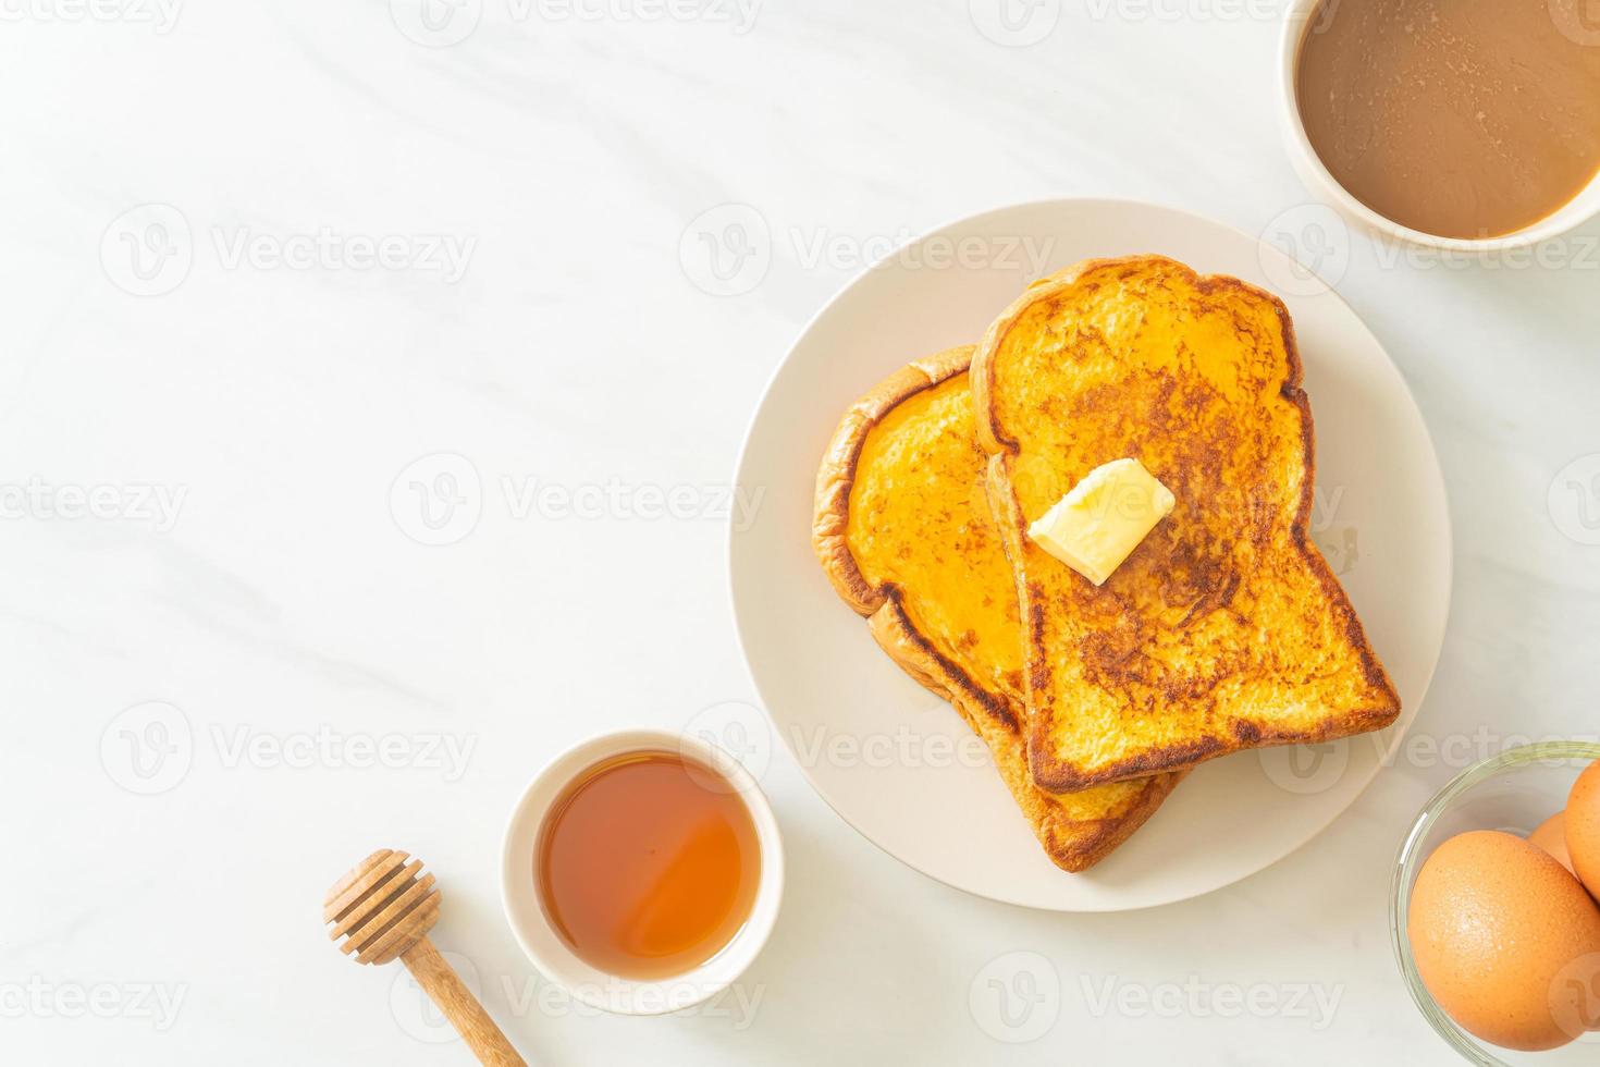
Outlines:
{"type": "Polygon", "coordinates": [[[834,590],[851,609],[867,617],[867,629],[878,646],[907,675],[949,701],[989,744],[995,753],[995,766],[1051,862],[1067,872],[1082,872],[1126,841],[1160,808],[1182,774],[1150,777],[1126,803],[1109,808],[1104,817],[1070,817],[1059,801],[1042,793],[1030,781],[1021,734],[1022,709],[1006,694],[984,688],[941,654],[906,613],[902,592],[894,585],[877,587],[869,582],[850,549],[850,498],[867,435],[910,397],[965,373],[971,354],[973,347],[965,346],[918,360],[883,379],[851,405],[818,470],[811,541],[834,590]]]}

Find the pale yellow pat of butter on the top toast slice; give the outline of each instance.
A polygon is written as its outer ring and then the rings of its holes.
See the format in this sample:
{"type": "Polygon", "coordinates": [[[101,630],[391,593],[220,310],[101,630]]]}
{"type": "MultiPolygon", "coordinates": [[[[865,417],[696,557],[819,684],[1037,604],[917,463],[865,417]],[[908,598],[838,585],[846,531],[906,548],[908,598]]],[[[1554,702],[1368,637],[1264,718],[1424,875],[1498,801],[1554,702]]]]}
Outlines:
{"type": "Polygon", "coordinates": [[[1102,585],[1176,502],[1138,459],[1115,459],[1072,486],[1027,528],[1027,536],[1102,585]]]}

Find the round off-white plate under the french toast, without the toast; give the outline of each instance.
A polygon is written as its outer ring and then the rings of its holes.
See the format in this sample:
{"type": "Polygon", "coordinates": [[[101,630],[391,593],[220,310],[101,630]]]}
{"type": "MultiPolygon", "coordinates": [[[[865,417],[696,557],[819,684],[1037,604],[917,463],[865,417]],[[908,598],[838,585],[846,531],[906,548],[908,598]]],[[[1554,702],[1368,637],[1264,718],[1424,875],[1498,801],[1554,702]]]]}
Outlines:
{"type": "MultiPolygon", "coordinates": [[[[851,282],[800,334],[755,413],[738,483],[762,493],[731,534],[733,605],[755,688],[819,793],[917,870],[995,901],[1106,912],[1184,901],[1314,838],[1416,715],[1450,609],[1445,486],[1422,416],[1360,318],[1304,269],[1218,222],[1141,203],[1048,200],[930,234],[851,282]],[[1317,419],[1314,536],[1405,712],[1379,734],[1202,765],[1126,845],[1058,870],[957,713],[901,672],[811,553],[818,461],[840,414],[898,366],[976,342],[1040,274],[1162,253],[1283,298],[1317,419]],[[973,758],[973,750],[979,752],[973,758]]],[[[1397,827],[1398,832],[1398,827],[1397,827]]]]}

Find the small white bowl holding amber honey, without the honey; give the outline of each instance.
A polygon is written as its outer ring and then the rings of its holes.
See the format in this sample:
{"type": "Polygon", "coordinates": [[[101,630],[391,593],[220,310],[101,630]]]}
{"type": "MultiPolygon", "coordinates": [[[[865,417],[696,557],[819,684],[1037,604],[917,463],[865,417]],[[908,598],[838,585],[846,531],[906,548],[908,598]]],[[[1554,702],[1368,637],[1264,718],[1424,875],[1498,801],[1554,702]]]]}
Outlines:
{"type": "Polygon", "coordinates": [[[510,813],[501,853],[501,899],[517,944],[552,982],[584,1005],[624,1016],[659,1016],[691,1008],[731,985],[760,955],[778,920],[784,893],[784,848],[766,795],[738,760],[699,739],[664,729],[624,729],[600,734],[555,757],[539,771],[510,813]],[[750,917],[715,957],[683,974],[634,981],[600,971],[581,960],[550,923],[533,877],[533,856],[544,816],[562,792],[590,766],[629,752],[677,752],[715,768],[733,785],[755,824],[762,875],[750,917]]]}

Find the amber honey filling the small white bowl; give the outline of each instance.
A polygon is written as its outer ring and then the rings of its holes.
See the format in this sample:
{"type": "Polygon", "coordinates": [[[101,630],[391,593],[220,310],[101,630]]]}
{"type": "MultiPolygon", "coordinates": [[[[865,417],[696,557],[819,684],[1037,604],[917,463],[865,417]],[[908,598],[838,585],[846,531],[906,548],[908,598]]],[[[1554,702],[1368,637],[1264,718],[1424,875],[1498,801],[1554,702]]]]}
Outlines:
{"type": "Polygon", "coordinates": [[[659,981],[738,936],[762,853],[722,774],[677,752],[630,752],[590,766],[557,798],[533,867],[550,925],[581,960],[659,981]]]}

